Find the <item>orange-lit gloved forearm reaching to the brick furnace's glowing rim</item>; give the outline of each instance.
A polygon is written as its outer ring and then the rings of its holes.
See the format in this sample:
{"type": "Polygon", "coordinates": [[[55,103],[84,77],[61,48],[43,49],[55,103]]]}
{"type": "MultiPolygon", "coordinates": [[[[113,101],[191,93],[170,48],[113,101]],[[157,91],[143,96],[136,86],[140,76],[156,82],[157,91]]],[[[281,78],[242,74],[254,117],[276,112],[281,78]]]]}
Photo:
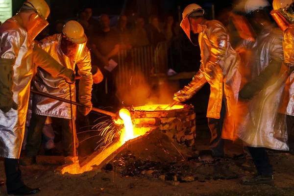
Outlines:
{"type": "Polygon", "coordinates": [[[203,65],[200,65],[199,71],[193,77],[192,81],[185,86],[182,90],[178,91],[173,95],[173,99],[175,101],[183,102],[190,98],[192,98],[204,84],[207,82],[204,72],[203,72],[203,65]]]}

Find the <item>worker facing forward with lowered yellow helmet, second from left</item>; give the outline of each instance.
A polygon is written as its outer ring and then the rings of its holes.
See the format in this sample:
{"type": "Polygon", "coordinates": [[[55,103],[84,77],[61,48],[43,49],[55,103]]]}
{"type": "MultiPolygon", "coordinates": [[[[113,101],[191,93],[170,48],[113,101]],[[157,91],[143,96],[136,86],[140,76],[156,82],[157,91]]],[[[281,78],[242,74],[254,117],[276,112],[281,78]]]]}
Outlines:
{"type": "MultiPolygon", "coordinates": [[[[84,29],[76,21],[66,23],[62,34],[55,34],[41,41],[42,49],[64,67],[75,70],[75,65],[77,65],[80,75],[78,99],[80,103],[86,106],[78,106],[78,110],[84,116],[88,115],[92,109],[91,91],[93,84],[91,56],[86,44],[87,37],[84,29]]],[[[35,90],[75,101],[75,85],[68,85],[64,78],[55,77],[44,69],[38,68],[38,73],[34,79],[33,88],[35,90]]],[[[21,161],[22,165],[36,163],[36,156],[42,141],[42,128],[48,116],[61,120],[62,143],[65,157],[68,157],[66,160],[71,160],[70,157],[74,156],[75,106],[52,98],[33,95],[32,118],[25,147],[26,158],[21,161]],[[71,108],[73,111],[71,111],[71,108]]],[[[75,143],[77,147],[77,139],[75,143]]]]}

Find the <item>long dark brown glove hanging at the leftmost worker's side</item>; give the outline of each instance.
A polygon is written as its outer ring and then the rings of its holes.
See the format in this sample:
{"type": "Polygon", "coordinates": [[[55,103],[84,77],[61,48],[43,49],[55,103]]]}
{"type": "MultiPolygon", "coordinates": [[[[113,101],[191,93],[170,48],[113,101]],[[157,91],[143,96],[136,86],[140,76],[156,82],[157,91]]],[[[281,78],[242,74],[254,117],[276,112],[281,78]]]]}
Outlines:
{"type": "Polygon", "coordinates": [[[15,59],[0,59],[0,110],[7,113],[11,108],[17,110],[18,105],[13,100],[13,65],[15,59]]]}

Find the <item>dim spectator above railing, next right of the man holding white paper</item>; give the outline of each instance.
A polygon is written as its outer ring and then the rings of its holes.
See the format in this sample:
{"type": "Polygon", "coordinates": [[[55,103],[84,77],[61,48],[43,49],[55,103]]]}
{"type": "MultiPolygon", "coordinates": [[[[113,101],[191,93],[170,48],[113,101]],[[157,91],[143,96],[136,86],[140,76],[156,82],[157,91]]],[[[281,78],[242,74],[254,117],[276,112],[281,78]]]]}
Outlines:
{"type": "Polygon", "coordinates": [[[113,27],[120,34],[120,49],[131,49],[130,31],[126,27],[127,17],[121,15],[118,20],[118,25],[113,27]]]}

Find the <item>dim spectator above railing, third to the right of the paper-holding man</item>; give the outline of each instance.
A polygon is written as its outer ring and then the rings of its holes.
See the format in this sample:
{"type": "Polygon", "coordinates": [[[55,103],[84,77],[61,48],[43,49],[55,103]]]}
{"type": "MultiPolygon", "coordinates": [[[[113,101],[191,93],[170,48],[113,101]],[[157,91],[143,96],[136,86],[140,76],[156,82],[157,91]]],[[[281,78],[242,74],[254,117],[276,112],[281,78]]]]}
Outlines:
{"type": "Polygon", "coordinates": [[[152,46],[156,47],[159,42],[166,41],[166,38],[159,28],[157,16],[150,16],[149,24],[146,26],[147,36],[152,46]]]}

